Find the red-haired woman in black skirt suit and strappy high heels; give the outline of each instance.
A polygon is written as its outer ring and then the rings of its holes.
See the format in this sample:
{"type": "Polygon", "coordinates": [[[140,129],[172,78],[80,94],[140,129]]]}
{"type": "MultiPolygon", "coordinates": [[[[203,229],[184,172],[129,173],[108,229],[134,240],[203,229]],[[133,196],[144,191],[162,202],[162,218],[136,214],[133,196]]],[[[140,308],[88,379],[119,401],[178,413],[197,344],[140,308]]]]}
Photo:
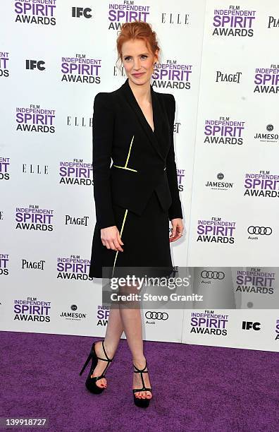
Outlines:
{"type": "MultiPolygon", "coordinates": [[[[173,270],[170,242],[179,239],[183,231],[173,148],[175,100],[173,95],[154,92],[151,87],[159,46],[149,24],[123,24],[117,49],[128,78],[117,90],[98,93],[94,99],[97,223],[89,276],[102,277],[103,267],[112,268],[111,275],[125,267],[144,269],[150,275],[169,275],[173,270]]],[[[152,394],[140,308],[111,308],[106,337],[94,342],[80,375],[92,359],[87,389],[100,393],[107,387],[104,373],[123,331],[134,366],[134,402],[148,407],[152,394]]]]}

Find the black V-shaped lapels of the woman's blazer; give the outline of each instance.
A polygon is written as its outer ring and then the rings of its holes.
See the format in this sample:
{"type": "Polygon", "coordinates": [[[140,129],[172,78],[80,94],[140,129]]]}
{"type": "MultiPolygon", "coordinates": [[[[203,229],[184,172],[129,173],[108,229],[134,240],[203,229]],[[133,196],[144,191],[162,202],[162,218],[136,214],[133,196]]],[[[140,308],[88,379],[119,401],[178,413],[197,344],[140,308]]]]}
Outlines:
{"type": "Polygon", "coordinates": [[[152,109],[153,109],[154,132],[152,131],[151,126],[149,125],[147,119],[145,118],[144,113],[140,108],[140,105],[137,103],[134,93],[132,92],[132,89],[130,88],[130,85],[128,83],[128,78],[125,80],[125,83],[121,86],[121,89],[123,90],[123,94],[125,95],[125,99],[127,100],[128,104],[132,108],[133,112],[135,112],[135,115],[137,116],[138,121],[140,121],[140,124],[147,135],[147,138],[149,138],[149,141],[153,145],[154,149],[159,154],[159,156],[163,159],[163,143],[161,140],[163,140],[163,123],[164,123],[163,119],[165,119],[166,121],[166,118],[165,116],[163,116],[163,112],[158,97],[156,96],[151,85],[150,88],[151,88],[151,100],[152,100],[152,109]]]}

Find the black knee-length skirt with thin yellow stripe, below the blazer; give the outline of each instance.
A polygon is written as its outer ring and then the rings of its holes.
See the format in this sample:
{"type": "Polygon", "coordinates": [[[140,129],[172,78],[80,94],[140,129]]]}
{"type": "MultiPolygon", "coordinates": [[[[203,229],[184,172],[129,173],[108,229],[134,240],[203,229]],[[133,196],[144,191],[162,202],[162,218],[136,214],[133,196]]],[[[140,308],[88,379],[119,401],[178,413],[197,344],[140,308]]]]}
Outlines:
{"type": "Polygon", "coordinates": [[[113,203],[123,252],[101,243],[101,230],[94,228],[89,277],[168,277],[173,272],[168,211],[163,210],[154,190],[141,216],[113,203]],[[105,268],[103,272],[103,268],[105,268]],[[132,272],[131,272],[132,270],[132,272]]]}

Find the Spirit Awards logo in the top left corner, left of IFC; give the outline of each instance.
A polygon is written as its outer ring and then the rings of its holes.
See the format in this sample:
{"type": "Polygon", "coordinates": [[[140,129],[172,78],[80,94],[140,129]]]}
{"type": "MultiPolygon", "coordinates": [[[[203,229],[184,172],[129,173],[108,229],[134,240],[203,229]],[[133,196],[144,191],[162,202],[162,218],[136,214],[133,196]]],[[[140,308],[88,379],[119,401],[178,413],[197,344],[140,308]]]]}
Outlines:
{"type": "Polygon", "coordinates": [[[15,1],[16,23],[56,25],[56,0],[15,1]]]}

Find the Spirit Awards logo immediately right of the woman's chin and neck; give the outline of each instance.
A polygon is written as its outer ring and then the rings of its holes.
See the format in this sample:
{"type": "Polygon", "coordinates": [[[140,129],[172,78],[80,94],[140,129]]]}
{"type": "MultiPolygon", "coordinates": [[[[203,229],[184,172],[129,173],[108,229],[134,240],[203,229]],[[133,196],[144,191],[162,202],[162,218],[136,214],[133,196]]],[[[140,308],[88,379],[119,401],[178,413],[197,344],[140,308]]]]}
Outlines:
{"type": "Polygon", "coordinates": [[[166,63],[156,64],[152,75],[152,87],[190,90],[192,64],[180,64],[168,59],[166,63]]]}

